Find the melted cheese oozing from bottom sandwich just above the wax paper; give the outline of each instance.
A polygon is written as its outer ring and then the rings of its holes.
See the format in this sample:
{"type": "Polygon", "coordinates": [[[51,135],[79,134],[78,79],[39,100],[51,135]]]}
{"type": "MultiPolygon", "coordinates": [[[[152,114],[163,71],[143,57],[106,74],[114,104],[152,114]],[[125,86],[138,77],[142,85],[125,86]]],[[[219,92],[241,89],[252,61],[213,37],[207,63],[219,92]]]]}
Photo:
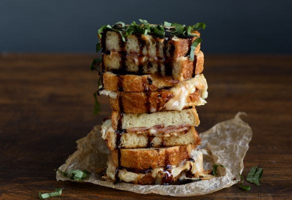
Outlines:
{"type": "MultiPolygon", "coordinates": [[[[195,176],[203,173],[204,169],[203,169],[203,154],[202,154],[202,152],[194,149],[191,154],[194,156],[192,158],[195,160],[195,162],[192,162],[190,160],[183,161],[178,166],[173,165],[172,169],[170,171],[166,171],[164,168],[158,167],[158,168],[152,169],[152,171],[150,172],[151,176],[153,178],[156,178],[157,180],[161,180],[161,178],[165,175],[165,173],[168,173],[169,175],[171,174],[173,178],[178,176],[184,170],[190,170],[192,172],[192,174],[195,174],[195,176]]],[[[109,161],[108,161],[108,167],[106,169],[106,174],[113,180],[115,179],[116,167],[117,166],[113,163],[113,161],[110,157],[109,161]]],[[[131,182],[131,181],[138,180],[140,178],[143,178],[144,175],[146,175],[146,174],[134,173],[134,172],[127,171],[126,169],[119,170],[119,178],[120,178],[120,180],[123,180],[125,182],[131,182]]]]}

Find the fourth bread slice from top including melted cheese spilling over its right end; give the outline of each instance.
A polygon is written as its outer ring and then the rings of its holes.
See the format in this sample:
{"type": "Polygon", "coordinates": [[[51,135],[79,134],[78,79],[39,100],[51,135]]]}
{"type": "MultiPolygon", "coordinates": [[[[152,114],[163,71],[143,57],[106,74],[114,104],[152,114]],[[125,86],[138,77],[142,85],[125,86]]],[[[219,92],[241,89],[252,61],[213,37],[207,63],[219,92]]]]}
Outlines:
{"type": "MultiPolygon", "coordinates": [[[[133,85],[134,86],[134,85],[133,85]]],[[[148,90],[149,85],[144,85],[148,90]]],[[[123,88],[119,84],[119,88],[123,88]]],[[[170,89],[149,92],[117,92],[101,90],[100,94],[110,96],[110,104],[114,111],[131,113],[151,113],[161,110],[182,110],[183,108],[203,105],[208,96],[207,80],[203,74],[182,80],[170,89]]]]}

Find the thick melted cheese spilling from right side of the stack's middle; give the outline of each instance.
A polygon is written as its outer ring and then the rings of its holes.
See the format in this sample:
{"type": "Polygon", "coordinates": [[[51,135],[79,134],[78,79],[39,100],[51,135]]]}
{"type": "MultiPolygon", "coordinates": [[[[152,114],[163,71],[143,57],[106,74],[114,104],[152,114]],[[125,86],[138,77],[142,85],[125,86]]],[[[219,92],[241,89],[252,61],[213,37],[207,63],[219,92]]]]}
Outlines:
{"type": "Polygon", "coordinates": [[[197,105],[203,105],[207,102],[205,100],[208,97],[207,88],[207,80],[203,74],[198,74],[191,79],[180,81],[170,89],[174,97],[165,103],[165,108],[167,110],[182,110],[188,104],[187,97],[191,93],[194,93],[196,89],[202,90],[197,105]]]}

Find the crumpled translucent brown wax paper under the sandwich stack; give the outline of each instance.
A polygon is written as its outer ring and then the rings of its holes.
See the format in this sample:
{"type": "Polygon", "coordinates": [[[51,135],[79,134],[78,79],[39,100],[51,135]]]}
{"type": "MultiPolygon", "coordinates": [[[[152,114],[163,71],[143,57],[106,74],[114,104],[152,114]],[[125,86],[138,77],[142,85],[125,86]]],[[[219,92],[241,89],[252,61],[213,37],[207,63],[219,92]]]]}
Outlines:
{"type": "MultiPolygon", "coordinates": [[[[87,169],[91,173],[84,182],[103,185],[136,193],[157,193],[171,196],[193,196],[211,193],[224,187],[230,187],[240,180],[243,171],[243,159],[249,148],[252,138],[252,128],[244,122],[240,116],[244,112],[238,112],[230,120],[214,125],[211,129],[200,134],[202,144],[198,147],[204,156],[204,169],[212,170],[213,165],[222,164],[218,167],[217,177],[210,180],[200,180],[182,185],[138,185],[130,183],[107,182],[101,180],[99,172],[106,167],[109,150],[100,136],[100,126],[97,125],[85,137],[77,140],[77,150],[70,155],[66,163],[59,169],[87,169]]],[[[58,171],[57,180],[70,180],[62,176],[58,171]]]]}

